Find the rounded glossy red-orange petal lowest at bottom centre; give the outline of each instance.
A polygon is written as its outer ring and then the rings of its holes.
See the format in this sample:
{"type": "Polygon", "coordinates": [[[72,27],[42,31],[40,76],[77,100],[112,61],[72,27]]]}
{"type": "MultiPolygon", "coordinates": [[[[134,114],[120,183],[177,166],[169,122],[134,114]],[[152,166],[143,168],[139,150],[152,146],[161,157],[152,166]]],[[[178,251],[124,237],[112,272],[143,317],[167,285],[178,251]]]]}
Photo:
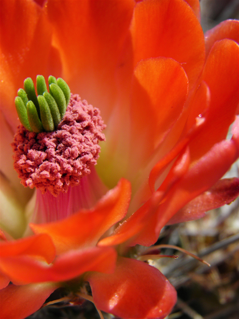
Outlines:
{"type": "Polygon", "coordinates": [[[119,258],[114,274],[90,273],[94,304],[119,318],[165,318],[176,303],[176,291],[154,267],[119,258]]]}

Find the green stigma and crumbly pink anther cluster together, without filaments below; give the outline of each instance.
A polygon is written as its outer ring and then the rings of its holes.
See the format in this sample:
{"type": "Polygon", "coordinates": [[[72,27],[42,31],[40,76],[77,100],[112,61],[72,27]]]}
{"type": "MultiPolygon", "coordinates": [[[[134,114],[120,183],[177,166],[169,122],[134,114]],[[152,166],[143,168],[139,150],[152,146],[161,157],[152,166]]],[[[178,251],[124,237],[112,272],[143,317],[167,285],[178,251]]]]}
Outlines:
{"type": "Polygon", "coordinates": [[[105,141],[102,131],[106,126],[100,111],[71,94],[64,80],[50,76],[48,83],[50,93],[44,77],[37,76],[38,97],[30,78],[24,81],[24,90],[18,90],[15,104],[25,122],[18,126],[12,148],[21,183],[56,197],[91,172],[99,158],[98,143],[105,141]]]}

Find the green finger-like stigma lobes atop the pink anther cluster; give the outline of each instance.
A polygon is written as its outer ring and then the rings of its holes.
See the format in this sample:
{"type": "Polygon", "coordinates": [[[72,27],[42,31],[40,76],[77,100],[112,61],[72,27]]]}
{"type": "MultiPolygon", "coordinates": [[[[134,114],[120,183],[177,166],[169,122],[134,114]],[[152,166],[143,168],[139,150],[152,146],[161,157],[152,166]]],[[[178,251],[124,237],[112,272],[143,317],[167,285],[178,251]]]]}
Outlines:
{"type": "Polygon", "coordinates": [[[24,81],[24,90],[17,91],[16,111],[21,124],[30,132],[52,132],[66,113],[71,91],[66,82],[52,75],[48,78],[49,92],[42,75],[36,77],[36,90],[31,78],[24,81]]]}

